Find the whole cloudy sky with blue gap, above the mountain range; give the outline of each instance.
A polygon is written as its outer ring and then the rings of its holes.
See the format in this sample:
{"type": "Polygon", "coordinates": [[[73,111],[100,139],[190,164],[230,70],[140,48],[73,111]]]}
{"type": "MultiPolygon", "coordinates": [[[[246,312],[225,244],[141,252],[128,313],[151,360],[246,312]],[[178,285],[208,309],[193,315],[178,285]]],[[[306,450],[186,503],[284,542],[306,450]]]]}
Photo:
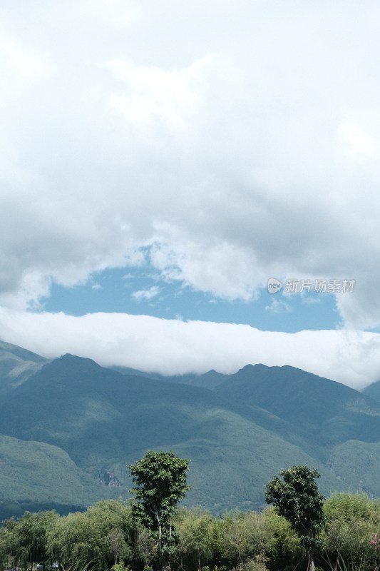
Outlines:
{"type": "Polygon", "coordinates": [[[1,340],[379,380],[379,25],[372,0],[1,0],[1,340]]]}

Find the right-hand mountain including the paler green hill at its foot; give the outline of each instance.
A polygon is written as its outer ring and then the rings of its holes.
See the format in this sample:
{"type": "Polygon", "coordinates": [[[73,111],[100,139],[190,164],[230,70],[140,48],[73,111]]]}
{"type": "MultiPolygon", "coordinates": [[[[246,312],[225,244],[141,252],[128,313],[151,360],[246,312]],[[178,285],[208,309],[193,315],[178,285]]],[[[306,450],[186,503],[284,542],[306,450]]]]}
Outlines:
{"type": "Polygon", "coordinates": [[[344,489],[379,497],[380,403],[373,398],[288,365],[247,365],[215,391],[281,418],[284,438],[322,462],[344,489]]]}

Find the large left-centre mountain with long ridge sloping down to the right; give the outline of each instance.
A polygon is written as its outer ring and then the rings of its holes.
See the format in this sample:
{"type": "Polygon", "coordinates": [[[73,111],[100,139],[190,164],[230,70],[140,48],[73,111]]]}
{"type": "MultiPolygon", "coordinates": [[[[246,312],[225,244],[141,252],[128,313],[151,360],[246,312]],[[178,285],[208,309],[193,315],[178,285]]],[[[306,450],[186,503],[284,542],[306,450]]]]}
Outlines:
{"type": "Polygon", "coordinates": [[[324,489],[341,488],[322,463],[211,390],[120,375],[72,355],[7,396],[0,432],[55,445],[96,480],[114,471],[123,494],[126,464],[150,448],[173,449],[192,460],[187,502],[212,510],[261,506],[267,480],[292,463],[318,468],[324,489]]]}

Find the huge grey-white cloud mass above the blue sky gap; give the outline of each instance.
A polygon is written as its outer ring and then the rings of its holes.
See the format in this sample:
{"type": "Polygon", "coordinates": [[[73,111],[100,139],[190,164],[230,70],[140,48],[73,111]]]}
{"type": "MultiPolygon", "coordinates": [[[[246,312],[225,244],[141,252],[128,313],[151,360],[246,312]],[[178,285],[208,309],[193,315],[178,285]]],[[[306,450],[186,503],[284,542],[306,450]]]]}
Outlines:
{"type": "Polygon", "coordinates": [[[151,246],[168,279],[250,299],[354,278],[380,324],[379,5],[47,0],[1,8],[0,303],[151,246]]]}

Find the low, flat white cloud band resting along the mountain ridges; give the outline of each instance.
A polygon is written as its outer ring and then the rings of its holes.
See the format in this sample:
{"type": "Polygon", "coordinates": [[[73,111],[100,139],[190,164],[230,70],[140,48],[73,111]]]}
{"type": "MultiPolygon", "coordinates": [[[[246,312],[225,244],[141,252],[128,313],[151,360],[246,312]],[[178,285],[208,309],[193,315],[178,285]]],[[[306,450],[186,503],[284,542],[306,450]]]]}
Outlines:
{"type": "Polygon", "coordinates": [[[48,358],[73,353],[101,365],[163,374],[234,373],[248,363],[292,365],[362,388],[379,380],[380,335],[352,330],[277,333],[249,325],[148,315],[0,309],[0,338],[48,358]]]}

